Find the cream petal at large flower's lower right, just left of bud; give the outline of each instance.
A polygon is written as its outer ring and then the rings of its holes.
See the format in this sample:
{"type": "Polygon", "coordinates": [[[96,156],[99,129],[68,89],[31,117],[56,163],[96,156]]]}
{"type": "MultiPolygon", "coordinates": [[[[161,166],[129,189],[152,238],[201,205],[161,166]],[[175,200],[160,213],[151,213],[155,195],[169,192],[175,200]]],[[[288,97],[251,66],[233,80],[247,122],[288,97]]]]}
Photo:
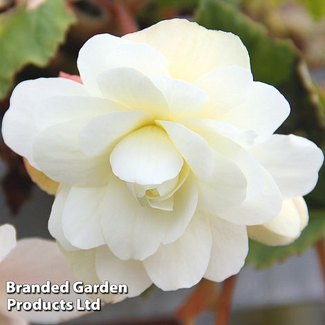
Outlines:
{"type": "Polygon", "coordinates": [[[241,270],[248,254],[248,235],[244,225],[209,215],[212,232],[212,251],[204,277],[211,281],[223,281],[241,270]]]}

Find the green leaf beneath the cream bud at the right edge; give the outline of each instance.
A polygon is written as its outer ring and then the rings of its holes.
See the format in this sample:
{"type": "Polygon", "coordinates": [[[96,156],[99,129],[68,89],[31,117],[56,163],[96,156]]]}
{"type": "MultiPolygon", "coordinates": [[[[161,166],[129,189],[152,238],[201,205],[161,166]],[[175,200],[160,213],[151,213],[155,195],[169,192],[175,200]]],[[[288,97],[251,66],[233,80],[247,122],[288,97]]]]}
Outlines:
{"type": "Polygon", "coordinates": [[[250,251],[246,264],[253,263],[258,269],[268,268],[275,262],[283,262],[291,255],[303,254],[310,246],[314,245],[325,234],[325,210],[310,212],[308,227],[301,236],[292,244],[271,247],[250,240],[250,251]]]}

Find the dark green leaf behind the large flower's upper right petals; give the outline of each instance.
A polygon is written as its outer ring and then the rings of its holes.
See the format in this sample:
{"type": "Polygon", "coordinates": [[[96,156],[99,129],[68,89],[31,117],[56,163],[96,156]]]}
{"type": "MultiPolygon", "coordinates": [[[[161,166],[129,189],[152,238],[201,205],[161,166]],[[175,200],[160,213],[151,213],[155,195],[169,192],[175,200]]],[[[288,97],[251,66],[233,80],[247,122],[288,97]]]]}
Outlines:
{"type": "Polygon", "coordinates": [[[297,63],[297,50],[292,41],[271,39],[265,26],[252,21],[228,1],[201,0],[196,21],[206,28],[239,35],[250,53],[256,80],[281,84],[288,80],[297,63]]]}

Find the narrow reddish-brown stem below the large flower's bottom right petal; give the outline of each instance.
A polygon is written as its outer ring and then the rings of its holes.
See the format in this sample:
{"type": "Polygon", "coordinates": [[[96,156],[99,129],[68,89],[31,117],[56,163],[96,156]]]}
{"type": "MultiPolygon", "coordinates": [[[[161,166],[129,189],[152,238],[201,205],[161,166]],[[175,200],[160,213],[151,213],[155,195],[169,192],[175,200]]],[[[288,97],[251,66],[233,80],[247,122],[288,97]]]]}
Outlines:
{"type": "Polygon", "coordinates": [[[234,295],[234,286],[236,284],[236,275],[223,281],[223,285],[216,304],[216,325],[228,325],[232,306],[232,296],[234,295]]]}

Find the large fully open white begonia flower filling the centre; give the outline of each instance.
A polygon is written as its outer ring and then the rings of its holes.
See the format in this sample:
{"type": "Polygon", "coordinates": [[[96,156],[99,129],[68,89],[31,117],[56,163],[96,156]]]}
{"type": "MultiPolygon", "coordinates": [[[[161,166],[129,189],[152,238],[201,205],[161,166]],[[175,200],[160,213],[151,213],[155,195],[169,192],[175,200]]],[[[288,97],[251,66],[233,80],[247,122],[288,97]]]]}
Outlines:
{"type": "Polygon", "coordinates": [[[83,279],[126,283],[129,297],[223,281],[243,266],[246,226],[277,228],[283,201],[315,187],[322,151],[273,135],[290,106],[253,81],[236,35],[160,21],[92,37],[77,65],[82,84],[19,84],[2,132],[61,183],[49,230],[83,279]]]}

